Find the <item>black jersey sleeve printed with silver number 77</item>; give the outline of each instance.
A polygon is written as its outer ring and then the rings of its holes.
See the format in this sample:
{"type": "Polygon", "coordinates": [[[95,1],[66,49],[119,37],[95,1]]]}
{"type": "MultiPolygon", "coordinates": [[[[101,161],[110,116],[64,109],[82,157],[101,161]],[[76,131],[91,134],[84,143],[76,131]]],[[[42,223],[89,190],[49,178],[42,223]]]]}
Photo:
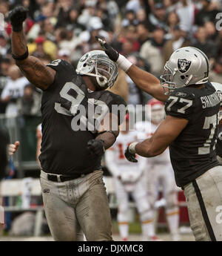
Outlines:
{"type": "Polygon", "coordinates": [[[183,90],[173,91],[165,103],[166,115],[188,119],[189,121],[192,119],[194,109],[194,96],[183,90]]]}

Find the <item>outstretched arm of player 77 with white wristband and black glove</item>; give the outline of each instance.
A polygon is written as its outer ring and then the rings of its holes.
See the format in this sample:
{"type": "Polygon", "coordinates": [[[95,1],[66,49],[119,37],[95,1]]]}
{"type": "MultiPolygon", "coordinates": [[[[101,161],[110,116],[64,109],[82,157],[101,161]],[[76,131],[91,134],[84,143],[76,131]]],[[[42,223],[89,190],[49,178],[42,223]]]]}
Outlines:
{"type": "Polygon", "coordinates": [[[113,62],[116,62],[118,67],[123,69],[127,75],[135,82],[141,90],[149,93],[153,97],[162,102],[166,101],[167,97],[164,94],[164,89],[161,86],[161,82],[152,73],[142,70],[141,68],[136,67],[128,59],[114,50],[107,42],[105,42],[100,37],[96,36],[96,39],[103,47],[105,53],[112,59],[113,62]]]}

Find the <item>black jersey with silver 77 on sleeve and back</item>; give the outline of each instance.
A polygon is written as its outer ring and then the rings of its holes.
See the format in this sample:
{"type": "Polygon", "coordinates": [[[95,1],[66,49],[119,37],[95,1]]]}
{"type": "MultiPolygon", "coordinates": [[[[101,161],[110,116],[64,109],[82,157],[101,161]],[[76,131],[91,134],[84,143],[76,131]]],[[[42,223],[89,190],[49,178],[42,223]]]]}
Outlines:
{"type": "Polygon", "coordinates": [[[166,101],[166,115],[189,120],[186,128],[169,145],[178,186],[192,182],[219,165],[215,142],[218,134],[220,99],[210,82],[203,88],[178,88],[166,101]]]}

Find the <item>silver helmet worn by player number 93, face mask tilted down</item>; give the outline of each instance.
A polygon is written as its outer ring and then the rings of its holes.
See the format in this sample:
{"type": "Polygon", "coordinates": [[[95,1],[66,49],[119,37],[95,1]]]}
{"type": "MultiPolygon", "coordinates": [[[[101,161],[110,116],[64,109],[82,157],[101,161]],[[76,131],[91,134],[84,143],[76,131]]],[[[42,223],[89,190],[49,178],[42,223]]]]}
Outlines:
{"type": "Polygon", "coordinates": [[[91,50],[78,61],[76,73],[95,76],[101,88],[112,87],[117,76],[118,68],[115,62],[103,50],[91,50]]]}

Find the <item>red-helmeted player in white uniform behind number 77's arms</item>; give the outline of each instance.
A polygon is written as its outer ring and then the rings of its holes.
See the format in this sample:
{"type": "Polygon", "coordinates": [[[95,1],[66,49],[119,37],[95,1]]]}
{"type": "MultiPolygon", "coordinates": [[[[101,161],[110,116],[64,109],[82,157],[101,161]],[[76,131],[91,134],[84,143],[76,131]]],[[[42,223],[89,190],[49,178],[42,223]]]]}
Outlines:
{"type": "MultiPolygon", "coordinates": [[[[147,113],[148,121],[137,122],[135,128],[138,131],[138,139],[152,137],[158,125],[164,120],[164,104],[157,99],[150,99],[147,102],[149,111],[147,113]]],[[[169,150],[164,153],[147,158],[145,171],[147,177],[147,189],[149,203],[152,211],[155,211],[155,202],[158,200],[158,191],[162,187],[163,197],[166,200],[166,220],[169,226],[169,232],[172,240],[180,240],[178,234],[179,209],[177,191],[174,180],[172,165],[169,158],[169,150]]]]}

